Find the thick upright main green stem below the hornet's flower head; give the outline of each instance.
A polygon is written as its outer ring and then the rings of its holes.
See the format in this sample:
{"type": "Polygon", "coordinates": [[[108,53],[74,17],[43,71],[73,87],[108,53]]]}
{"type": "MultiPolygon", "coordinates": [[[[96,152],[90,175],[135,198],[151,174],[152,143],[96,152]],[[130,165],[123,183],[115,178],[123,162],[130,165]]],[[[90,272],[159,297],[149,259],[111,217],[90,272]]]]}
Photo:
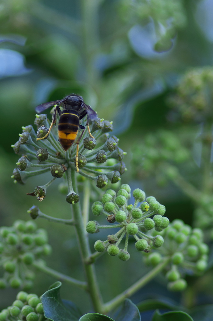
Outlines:
{"type": "MultiPolygon", "coordinates": [[[[77,192],[77,184],[76,184],[76,177],[75,177],[76,173],[73,169],[69,169],[69,170],[71,170],[73,190],[77,192]]],[[[71,205],[71,210],[73,213],[73,220],[75,224],[74,227],[78,238],[78,244],[81,252],[81,259],[84,265],[86,280],[88,284],[87,291],[90,294],[95,312],[102,313],[103,303],[102,303],[101,293],[98,287],[98,282],[96,279],[94,264],[89,264],[89,265],[86,264],[86,259],[88,256],[91,255],[91,252],[89,248],[87,233],[84,228],[80,204],[76,203],[74,205],[71,205]]]]}

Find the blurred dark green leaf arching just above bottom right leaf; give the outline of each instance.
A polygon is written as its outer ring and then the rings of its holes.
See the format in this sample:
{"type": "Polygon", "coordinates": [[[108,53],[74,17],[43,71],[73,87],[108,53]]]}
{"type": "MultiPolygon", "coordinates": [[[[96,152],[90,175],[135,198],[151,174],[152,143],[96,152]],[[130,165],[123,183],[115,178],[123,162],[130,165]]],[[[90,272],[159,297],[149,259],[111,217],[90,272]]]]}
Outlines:
{"type": "Polygon", "coordinates": [[[140,312],[156,309],[169,309],[181,310],[181,307],[176,306],[174,303],[167,302],[163,299],[147,299],[137,303],[140,312]]]}

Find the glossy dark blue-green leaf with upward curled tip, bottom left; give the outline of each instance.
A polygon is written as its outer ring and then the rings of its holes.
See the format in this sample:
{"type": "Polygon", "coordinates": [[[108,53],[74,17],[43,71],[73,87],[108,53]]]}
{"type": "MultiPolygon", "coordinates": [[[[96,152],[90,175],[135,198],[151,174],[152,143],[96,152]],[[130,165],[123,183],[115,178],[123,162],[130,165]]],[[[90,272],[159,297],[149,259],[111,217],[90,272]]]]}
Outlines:
{"type": "Polygon", "coordinates": [[[61,300],[60,287],[61,282],[55,282],[42,295],[41,302],[45,317],[53,321],[78,321],[81,316],[80,311],[73,302],[61,300]]]}

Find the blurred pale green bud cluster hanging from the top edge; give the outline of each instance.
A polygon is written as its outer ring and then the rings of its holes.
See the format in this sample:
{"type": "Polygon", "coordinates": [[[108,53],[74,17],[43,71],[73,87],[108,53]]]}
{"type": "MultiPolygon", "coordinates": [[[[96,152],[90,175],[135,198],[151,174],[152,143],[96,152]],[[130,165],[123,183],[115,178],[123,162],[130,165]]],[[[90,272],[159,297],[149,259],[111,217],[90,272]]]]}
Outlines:
{"type": "Polygon", "coordinates": [[[179,28],[186,24],[186,14],[183,2],[180,0],[151,0],[151,1],[120,1],[120,15],[128,23],[147,23],[153,20],[153,28],[159,41],[155,44],[158,52],[167,51],[172,47],[171,39],[179,28]],[[168,21],[172,21],[168,25],[168,21]],[[164,26],[163,30],[162,27],[164,26]]]}

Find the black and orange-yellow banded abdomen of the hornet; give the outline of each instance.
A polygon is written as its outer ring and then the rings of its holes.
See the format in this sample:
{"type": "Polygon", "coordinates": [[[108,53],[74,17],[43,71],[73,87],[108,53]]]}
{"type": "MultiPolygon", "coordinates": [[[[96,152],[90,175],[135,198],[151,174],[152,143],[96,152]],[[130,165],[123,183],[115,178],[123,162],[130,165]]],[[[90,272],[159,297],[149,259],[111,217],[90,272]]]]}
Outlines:
{"type": "Polygon", "coordinates": [[[58,123],[58,137],[59,142],[65,151],[74,143],[78,134],[78,127],[78,111],[72,109],[63,110],[58,123]]]}

